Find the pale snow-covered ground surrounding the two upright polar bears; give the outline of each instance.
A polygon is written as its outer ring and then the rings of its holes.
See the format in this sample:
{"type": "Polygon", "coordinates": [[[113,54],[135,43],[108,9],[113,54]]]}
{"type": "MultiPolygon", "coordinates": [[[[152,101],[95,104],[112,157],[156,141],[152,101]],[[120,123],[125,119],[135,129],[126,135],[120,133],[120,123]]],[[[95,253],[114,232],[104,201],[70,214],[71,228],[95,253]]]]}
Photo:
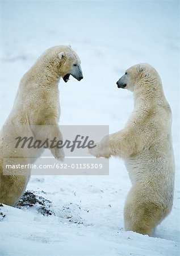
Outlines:
{"type": "Polygon", "coordinates": [[[0,207],[0,255],[179,255],[179,1],[1,1],[1,126],[19,80],[48,47],[71,44],[84,79],[60,81],[61,125],[121,129],[133,108],[116,81],[126,68],[150,63],[173,112],[174,205],[154,237],[123,229],[131,187],[123,161],[108,176],[32,176],[27,190],[51,201],[0,207]],[[6,215],[5,217],[3,217],[6,215]]]}

